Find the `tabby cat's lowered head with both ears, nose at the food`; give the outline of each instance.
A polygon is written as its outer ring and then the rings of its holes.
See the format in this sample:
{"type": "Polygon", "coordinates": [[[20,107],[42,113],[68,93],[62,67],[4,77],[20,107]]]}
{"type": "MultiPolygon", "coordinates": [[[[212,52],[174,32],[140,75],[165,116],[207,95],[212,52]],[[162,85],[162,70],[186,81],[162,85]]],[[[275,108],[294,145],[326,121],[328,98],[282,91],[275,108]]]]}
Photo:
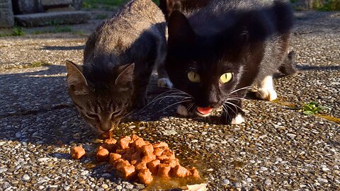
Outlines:
{"type": "Polygon", "coordinates": [[[86,122],[99,132],[114,129],[126,114],[133,91],[133,69],[133,64],[120,66],[110,75],[67,62],[69,95],[86,122]]]}

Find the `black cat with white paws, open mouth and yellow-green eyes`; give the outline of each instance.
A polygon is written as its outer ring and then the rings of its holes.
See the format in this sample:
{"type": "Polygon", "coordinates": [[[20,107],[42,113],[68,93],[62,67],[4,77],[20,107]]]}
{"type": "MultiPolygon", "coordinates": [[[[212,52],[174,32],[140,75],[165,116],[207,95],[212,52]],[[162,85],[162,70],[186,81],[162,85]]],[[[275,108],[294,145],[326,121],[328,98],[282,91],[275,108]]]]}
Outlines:
{"type": "Polygon", "coordinates": [[[166,71],[174,88],[190,96],[178,112],[206,117],[223,108],[225,123],[239,124],[242,98],[275,100],[273,74],[293,74],[288,56],[293,11],[286,1],[212,0],[193,13],[169,17],[166,71]]]}

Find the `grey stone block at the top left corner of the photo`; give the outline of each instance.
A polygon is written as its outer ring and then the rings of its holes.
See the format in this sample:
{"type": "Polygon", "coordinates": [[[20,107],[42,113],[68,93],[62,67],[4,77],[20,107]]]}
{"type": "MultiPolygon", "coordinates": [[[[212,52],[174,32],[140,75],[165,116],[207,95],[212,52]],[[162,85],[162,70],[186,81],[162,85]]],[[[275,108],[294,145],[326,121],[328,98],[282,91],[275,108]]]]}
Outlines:
{"type": "Polygon", "coordinates": [[[14,25],[11,0],[0,0],[0,27],[12,27],[14,25]]]}

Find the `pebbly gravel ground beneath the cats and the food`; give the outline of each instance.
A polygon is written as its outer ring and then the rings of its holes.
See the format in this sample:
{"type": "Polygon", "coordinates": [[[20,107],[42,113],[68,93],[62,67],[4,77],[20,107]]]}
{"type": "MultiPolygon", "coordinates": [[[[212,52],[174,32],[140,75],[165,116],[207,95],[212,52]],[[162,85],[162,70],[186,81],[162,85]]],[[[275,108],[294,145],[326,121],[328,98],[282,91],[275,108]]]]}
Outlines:
{"type": "MultiPolygon", "coordinates": [[[[339,190],[340,13],[296,16],[292,49],[300,71],[276,79],[278,101],[246,100],[243,125],[179,117],[174,106],[167,108],[176,100],[166,99],[132,113],[115,136],[166,141],[184,166],[198,167],[210,190],[339,190]],[[331,120],[295,109],[315,100],[331,108],[331,120]]],[[[81,63],[86,35],[98,22],[72,26],[84,29],[81,35],[0,37],[0,190],[145,187],[96,163],[93,152],[81,160],[69,156],[74,145],[88,151],[98,145],[67,95],[64,69],[65,59],[81,63]]],[[[155,84],[150,100],[164,91],[155,84]]]]}

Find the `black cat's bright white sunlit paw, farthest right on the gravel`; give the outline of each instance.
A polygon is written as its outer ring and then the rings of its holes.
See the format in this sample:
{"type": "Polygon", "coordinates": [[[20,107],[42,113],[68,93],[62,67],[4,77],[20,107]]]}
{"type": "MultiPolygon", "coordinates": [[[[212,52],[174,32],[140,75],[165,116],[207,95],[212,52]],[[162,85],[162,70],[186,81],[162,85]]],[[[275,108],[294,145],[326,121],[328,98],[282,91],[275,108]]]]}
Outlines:
{"type": "Polygon", "coordinates": [[[276,93],[273,86],[273,76],[266,76],[262,81],[257,84],[256,97],[263,100],[276,100],[278,94],[276,93]]]}

